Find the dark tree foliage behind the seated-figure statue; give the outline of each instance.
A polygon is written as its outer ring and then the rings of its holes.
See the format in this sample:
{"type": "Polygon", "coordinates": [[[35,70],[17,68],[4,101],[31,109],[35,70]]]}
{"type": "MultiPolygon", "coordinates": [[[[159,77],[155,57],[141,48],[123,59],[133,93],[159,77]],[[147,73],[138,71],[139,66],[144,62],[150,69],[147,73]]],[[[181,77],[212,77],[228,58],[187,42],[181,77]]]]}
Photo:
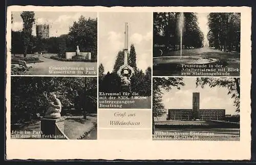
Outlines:
{"type": "Polygon", "coordinates": [[[82,103],[87,105],[83,105],[83,109],[87,107],[93,109],[94,113],[97,112],[97,78],[88,77],[87,83],[84,79],[84,77],[12,77],[12,117],[17,115],[24,118],[24,114],[44,114],[49,92],[55,92],[63,107],[70,108],[74,104],[74,91],[78,91],[82,103]]]}

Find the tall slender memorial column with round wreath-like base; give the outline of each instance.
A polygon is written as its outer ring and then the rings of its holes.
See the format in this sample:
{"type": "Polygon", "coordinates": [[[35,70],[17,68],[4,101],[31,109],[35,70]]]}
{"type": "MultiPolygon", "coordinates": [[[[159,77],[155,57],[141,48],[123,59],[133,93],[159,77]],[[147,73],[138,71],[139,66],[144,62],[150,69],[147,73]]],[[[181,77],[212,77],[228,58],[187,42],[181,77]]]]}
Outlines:
{"type": "Polygon", "coordinates": [[[119,68],[117,74],[121,78],[121,86],[124,92],[131,91],[131,77],[134,74],[134,69],[128,65],[128,23],[125,22],[124,31],[124,64],[119,68]]]}

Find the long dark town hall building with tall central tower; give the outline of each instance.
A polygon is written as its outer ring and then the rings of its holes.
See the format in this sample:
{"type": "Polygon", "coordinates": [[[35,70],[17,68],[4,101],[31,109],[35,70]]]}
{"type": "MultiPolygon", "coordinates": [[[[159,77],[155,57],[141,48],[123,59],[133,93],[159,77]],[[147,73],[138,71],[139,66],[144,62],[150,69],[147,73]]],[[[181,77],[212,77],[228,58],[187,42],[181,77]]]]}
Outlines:
{"type": "Polygon", "coordinates": [[[200,94],[193,93],[192,109],[168,109],[167,120],[225,120],[225,109],[200,109],[200,94]]]}

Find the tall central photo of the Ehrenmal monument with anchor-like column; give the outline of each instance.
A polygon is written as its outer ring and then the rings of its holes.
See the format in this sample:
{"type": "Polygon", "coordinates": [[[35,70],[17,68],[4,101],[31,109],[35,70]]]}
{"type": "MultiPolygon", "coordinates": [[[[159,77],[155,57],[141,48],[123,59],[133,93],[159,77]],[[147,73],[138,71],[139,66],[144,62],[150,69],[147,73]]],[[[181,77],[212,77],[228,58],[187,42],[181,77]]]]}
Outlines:
{"type": "Polygon", "coordinates": [[[99,108],[151,108],[152,13],[99,13],[99,108]]]}

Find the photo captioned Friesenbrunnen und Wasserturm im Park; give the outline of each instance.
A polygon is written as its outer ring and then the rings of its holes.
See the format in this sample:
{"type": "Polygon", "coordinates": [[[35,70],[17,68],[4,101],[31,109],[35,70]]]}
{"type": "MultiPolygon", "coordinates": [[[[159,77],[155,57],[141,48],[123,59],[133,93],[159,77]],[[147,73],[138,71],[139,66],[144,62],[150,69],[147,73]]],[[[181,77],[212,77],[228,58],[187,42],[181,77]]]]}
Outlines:
{"type": "Polygon", "coordinates": [[[11,13],[11,75],[97,75],[97,13],[11,13]]]}

